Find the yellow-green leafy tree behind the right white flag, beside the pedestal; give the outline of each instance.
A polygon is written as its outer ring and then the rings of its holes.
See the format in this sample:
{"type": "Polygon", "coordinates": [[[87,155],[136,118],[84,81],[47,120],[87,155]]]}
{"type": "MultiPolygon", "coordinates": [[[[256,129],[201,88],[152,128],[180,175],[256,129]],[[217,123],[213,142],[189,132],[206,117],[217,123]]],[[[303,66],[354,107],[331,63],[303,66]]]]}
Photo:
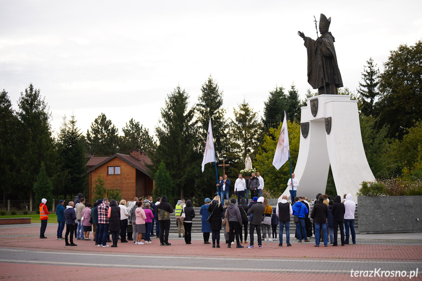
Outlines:
{"type": "MultiPolygon", "coordinates": [[[[264,137],[264,142],[256,155],[255,168],[265,178],[265,188],[273,196],[280,196],[287,188],[287,181],[290,178],[289,160],[277,171],[272,165],[277,141],[283,124],[275,129],[271,128],[264,137]]],[[[289,148],[291,170],[294,171],[299,153],[300,125],[297,122],[287,121],[289,132],[289,148]]]]}

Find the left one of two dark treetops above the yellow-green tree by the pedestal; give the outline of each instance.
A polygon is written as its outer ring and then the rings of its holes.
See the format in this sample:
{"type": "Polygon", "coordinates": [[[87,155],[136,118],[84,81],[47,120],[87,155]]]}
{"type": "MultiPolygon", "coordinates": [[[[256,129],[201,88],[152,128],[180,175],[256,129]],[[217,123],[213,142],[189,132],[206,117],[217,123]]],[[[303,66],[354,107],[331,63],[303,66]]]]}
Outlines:
{"type": "Polygon", "coordinates": [[[283,86],[275,86],[273,91],[269,92],[266,102],[264,102],[264,117],[262,124],[265,130],[269,128],[278,128],[284,118],[284,110],[287,106],[287,95],[284,93],[283,86]]]}

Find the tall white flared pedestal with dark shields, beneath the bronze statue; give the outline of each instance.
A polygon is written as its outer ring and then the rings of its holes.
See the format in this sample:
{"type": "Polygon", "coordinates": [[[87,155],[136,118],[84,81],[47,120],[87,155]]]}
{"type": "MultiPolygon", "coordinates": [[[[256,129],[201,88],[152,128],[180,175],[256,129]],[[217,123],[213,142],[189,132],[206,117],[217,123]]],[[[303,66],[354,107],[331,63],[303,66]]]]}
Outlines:
{"type": "MultiPolygon", "coordinates": [[[[343,198],[343,194],[350,193],[357,202],[356,193],[362,181],[375,180],[363,150],[357,101],[346,95],[319,95],[308,99],[301,114],[301,123],[309,122],[309,132],[305,138],[301,130],[293,172],[299,180],[297,196],[315,199],[318,193],[324,194],[331,164],[337,195],[343,198]],[[318,106],[313,116],[311,100],[315,99],[318,106]],[[325,125],[327,117],[331,117],[329,133],[325,125]]],[[[290,197],[289,189],[283,195],[290,197]]]]}

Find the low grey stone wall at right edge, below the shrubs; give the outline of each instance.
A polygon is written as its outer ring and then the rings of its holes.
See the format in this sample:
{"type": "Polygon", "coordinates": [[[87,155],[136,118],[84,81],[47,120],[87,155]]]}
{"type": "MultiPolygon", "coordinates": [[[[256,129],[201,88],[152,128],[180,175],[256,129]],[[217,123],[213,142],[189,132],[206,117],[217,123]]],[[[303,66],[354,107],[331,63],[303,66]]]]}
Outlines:
{"type": "Polygon", "coordinates": [[[359,196],[359,233],[422,232],[422,196],[359,196]]]}

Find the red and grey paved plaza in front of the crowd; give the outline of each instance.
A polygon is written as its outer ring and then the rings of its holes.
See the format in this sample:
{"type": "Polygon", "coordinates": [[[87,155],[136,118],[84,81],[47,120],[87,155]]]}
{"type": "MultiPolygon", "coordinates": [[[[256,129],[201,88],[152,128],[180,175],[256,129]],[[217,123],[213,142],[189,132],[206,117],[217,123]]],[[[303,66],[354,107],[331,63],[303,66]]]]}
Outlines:
{"type": "MultiPolygon", "coordinates": [[[[173,221],[174,222],[174,221],[173,221]]],[[[241,280],[409,280],[409,277],[363,277],[364,271],[406,271],[418,269],[422,280],[422,234],[356,235],[356,245],[313,247],[311,242],[279,247],[278,241],[263,241],[259,249],[228,249],[203,244],[202,234],[193,234],[192,244],[170,234],[171,246],[118,243],[103,248],[94,242],[74,240],[65,246],[56,239],[57,226],[49,223],[47,239],[39,238],[40,224],[0,226],[1,280],[206,280],[213,277],[241,280]],[[362,271],[351,277],[351,270],[362,271]],[[217,275],[216,275],[217,273],[217,275]],[[148,277],[147,277],[148,276],[148,277]]],[[[223,235],[222,235],[223,237],[223,235]]],[[[111,243],[108,243],[111,245],[111,243]]],[[[243,244],[244,246],[248,244],[243,244]]],[[[255,240],[255,246],[257,242],[255,240]]]]}

